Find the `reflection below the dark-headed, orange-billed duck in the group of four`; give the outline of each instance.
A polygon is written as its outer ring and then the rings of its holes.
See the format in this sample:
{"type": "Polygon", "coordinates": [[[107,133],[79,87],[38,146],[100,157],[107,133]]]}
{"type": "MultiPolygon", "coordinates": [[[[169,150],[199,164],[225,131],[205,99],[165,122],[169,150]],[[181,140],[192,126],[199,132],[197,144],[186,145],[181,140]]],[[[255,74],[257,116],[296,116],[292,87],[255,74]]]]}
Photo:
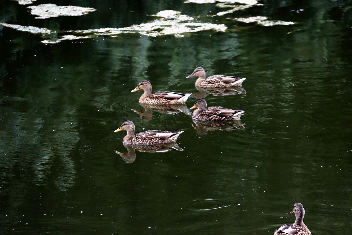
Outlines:
{"type": "Polygon", "coordinates": [[[240,120],[228,121],[228,122],[203,122],[193,119],[191,125],[196,130],[197,135],[206,135],[208,131],[232,131],[232,130],[244,130],[244,123],[240,120]]]}

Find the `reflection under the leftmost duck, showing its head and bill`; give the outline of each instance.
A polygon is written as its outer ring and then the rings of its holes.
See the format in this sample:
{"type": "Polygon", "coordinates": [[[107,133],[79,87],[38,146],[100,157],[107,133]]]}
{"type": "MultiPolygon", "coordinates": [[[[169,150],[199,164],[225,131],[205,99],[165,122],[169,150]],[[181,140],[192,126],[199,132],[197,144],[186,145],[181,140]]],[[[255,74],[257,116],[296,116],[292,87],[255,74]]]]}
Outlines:
{"type": "Polygon", "coordinates": [[[125,163],[132,163],[136,160],[136,150],[145,153],[164,153],[171,150],[183,151],[182,148],[178,146],[176,142],[167,143],[167,144],[158,144],[158,145],[130,145],[124,144],[127,149],[126,152],[120,152],[115,150],[115,153],[119,154],[125,163]]]}

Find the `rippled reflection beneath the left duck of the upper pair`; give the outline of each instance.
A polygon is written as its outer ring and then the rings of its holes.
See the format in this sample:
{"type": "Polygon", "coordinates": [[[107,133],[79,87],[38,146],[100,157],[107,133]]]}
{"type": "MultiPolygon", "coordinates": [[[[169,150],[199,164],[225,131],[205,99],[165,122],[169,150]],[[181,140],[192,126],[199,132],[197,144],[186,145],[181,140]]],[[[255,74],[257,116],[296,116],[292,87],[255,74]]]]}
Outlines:
{"type": "Polygon", "coordinates": [[[141,102],[139,102],[139,104],[143,106],[144,111],[140,111],[138,109],[132,109],[132,110],[138,113],[140,118],[145,122],[149,122],[153,118],[153,111],[157,111],[159,113],[168,113],[168,114],[176,114],[176,113],[184,112],[187,115],[191,115],[191,111],[189,111],[186,104],[154,105],[154,104],[145,104],[141,102]]]}

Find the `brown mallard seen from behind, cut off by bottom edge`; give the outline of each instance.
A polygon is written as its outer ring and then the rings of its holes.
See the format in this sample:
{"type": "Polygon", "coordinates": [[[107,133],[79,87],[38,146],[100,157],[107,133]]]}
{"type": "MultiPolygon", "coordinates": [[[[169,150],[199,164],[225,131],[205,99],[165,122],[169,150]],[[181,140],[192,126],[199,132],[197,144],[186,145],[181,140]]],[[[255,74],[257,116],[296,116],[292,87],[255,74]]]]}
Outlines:
{"type": "Polygon", "coordinates": [[[303,217],[306,213],[301,203],[295,203],[293,205],[293,211],[290,214],[295,213],[296,221],[294,224],[284,224],[280,228],[275,230],[274,235],[311,235],[307,225],[303,223],[303,217]]]}

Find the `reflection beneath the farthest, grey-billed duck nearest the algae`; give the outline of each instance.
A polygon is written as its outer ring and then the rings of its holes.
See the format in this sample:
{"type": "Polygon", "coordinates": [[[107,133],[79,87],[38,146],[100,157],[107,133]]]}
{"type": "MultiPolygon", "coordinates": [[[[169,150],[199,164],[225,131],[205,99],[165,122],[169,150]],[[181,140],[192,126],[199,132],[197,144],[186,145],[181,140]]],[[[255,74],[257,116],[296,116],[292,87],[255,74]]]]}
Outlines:
{"type": "Polygon", "coordinates": [[[246,90],[241,86],[237,87],[200,87],[195,86],[199,92],[194,92],[193,95],[200,99],[205,98],[207,94],[212,94],[214,96],[224,96],[224,95],[244,95],[246,90]]]}

